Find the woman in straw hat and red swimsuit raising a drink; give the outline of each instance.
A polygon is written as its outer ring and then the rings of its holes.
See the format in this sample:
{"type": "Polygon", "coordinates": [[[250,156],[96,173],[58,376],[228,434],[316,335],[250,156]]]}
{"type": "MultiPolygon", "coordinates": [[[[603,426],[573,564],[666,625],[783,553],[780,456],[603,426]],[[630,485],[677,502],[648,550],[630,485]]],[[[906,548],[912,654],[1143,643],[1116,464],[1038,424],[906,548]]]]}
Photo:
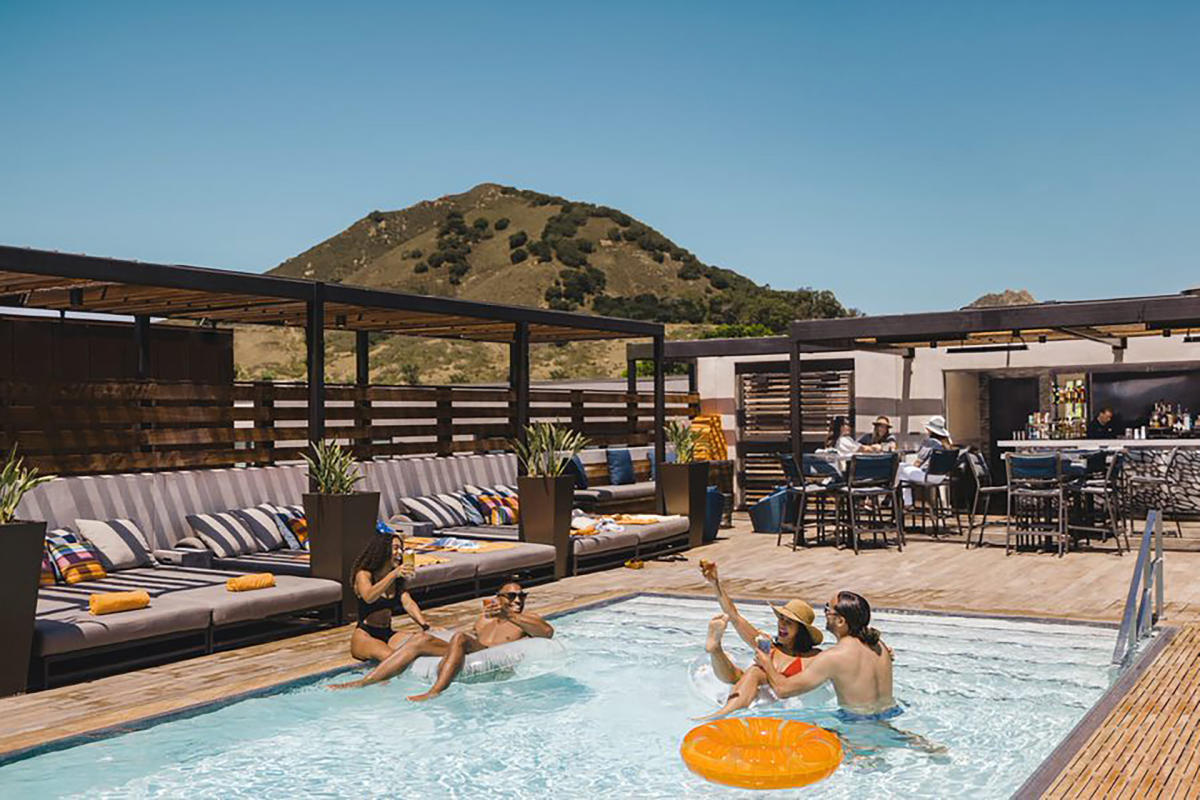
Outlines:
{"type": "Polygon", "coordinates": [[[767,675],[762,669],[754,664],[746,669],[739,669],[725,652],[721,646],[721,637],[725,634],[725,626],[728,622],[733,622],[733,630],[738,632],[743,642],[755,648],[756,657],[769,661],[776,672],[785,675],[799,675],[808,672],[810,666],[817,661],[817,656],[821,655],[816,645],[821,644],[824,637],[812,625],[816,618],[812,607],[803,600],[792,600],[784,606],[770,607],[775,612],[776,620],[775,638],[772,639],[738,612],[737,606],[733,604],[721,585],[720,576],[716,573],[716,564],[702,560],[700,571],[716,591],[716,601],[721,604],[722,612],[708,624],[708,640],[704,643],[704,649],[708,651],[716,678],[733,685],[725,705],[715,714],[704,717],[712,720],[749,706],[758,694],[760,687],[767,682],[767,675]]]}

